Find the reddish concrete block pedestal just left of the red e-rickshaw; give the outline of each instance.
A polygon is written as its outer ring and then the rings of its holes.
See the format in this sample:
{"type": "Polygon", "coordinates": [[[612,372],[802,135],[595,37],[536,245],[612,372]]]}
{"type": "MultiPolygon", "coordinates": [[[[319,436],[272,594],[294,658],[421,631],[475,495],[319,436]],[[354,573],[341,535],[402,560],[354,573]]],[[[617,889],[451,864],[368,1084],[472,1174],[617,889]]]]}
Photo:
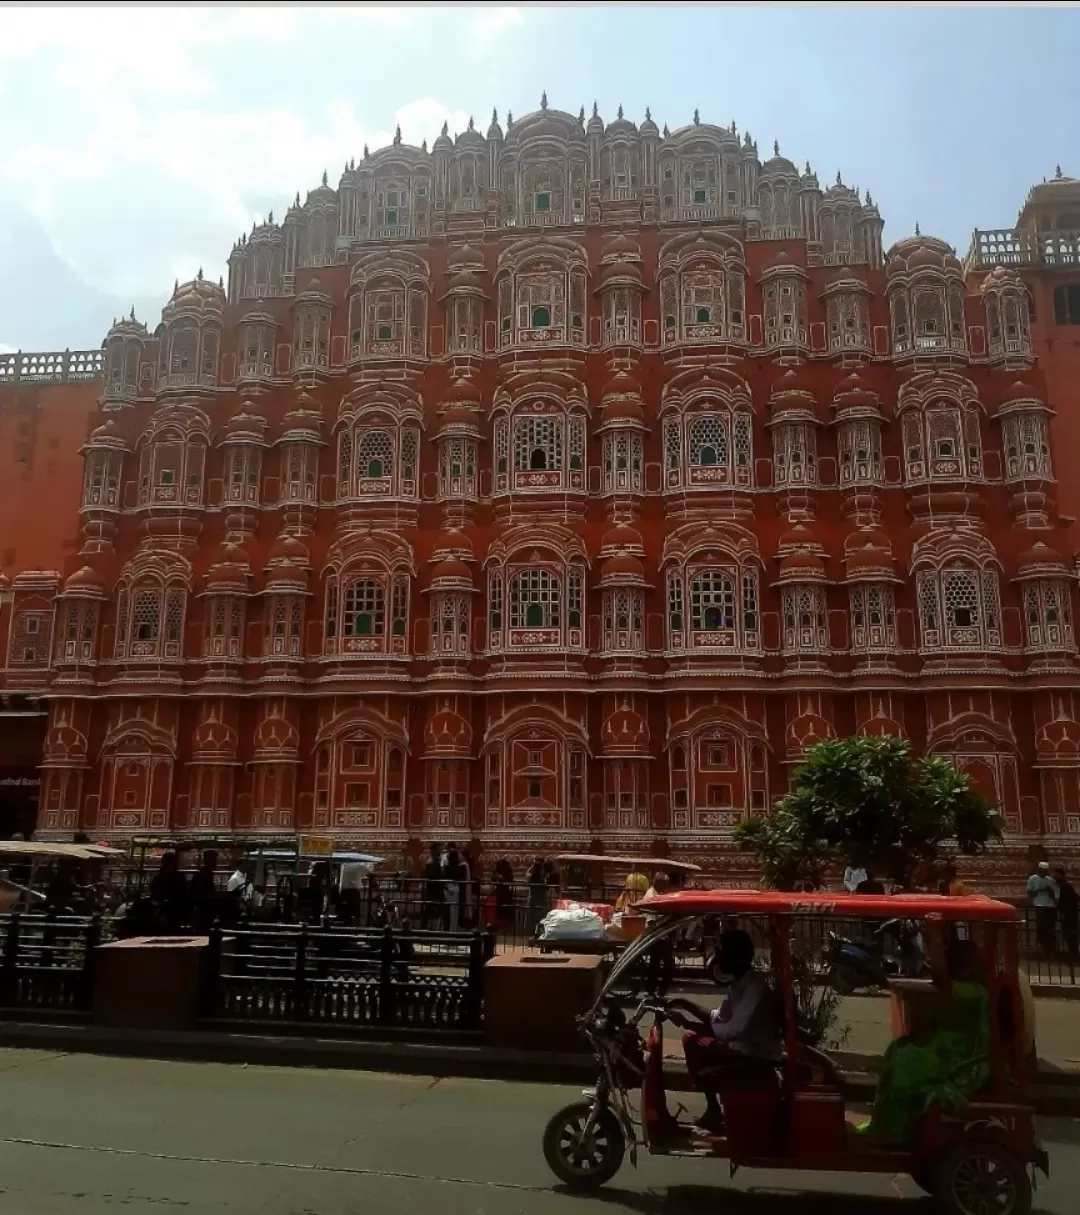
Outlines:
{"type": "Polygon", "coordinates": [[[601,960],[577,954],[508,954],[484,968],[484,1036],[491,1046],[583,1051],[577,1017],[600,994],[601,960]]]}

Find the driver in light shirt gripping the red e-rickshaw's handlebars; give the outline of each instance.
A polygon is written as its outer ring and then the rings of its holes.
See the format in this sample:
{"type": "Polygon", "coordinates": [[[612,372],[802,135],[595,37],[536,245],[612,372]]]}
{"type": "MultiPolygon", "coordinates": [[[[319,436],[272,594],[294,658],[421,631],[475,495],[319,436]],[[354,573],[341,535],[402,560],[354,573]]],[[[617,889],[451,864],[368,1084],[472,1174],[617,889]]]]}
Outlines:
{"type": "Polygon", "coordinates": [[[754,970],[753,960],[748,932],[722,932],[709,972],[718,984],[730,979],[724,1002],[706,1012],[689,1000],[677,999],[668,1001],[666,1010],[669,1021],[688,1030],[683,1035],[686,1070],[705,1094],[706,1103],[697,1125],[714,1134],[724,1129],[720,1089],[773,1083],[782,1047],[774,994],[765,976],[754,970]]]}

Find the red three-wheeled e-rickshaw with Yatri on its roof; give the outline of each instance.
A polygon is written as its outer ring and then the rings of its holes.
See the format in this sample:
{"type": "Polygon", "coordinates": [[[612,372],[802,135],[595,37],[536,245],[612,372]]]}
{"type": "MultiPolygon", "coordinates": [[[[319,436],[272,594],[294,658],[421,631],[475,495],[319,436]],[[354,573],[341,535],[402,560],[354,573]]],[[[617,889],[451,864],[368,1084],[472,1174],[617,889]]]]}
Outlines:
{"type": "MultiPolygon", "coordinates": [[[[1028,1215],[1034,1169],[1048,1175],[1048,1160],[1035,1135],[1028,1095],[1027,1059],[1018,983],[1016,910],[993,899],[963,895],[833,895],[767,891],[684,891],[641,906],[648,929],[620,957],[582,1028],[596,1061],[596,1086],[586,1100],[556,1113],[543,1137],[544,1157],[566,1186],[604,1185],[629,1152],[728,1160],[737,1168],[807,1169],[909,1174],[948,1215],[1028,1215]],[[661,990],[634,993],[627,1012],[624,988],[638,959],[677,933],[690,919],[719,917],[723,925],[762,925],[765,929],[773,991],[784,1050],[762,1069],[762,1083],[725,1089],[720,1134],[700,1131],[668,1112],[663,1081],[663,1024],[674,1001],[661,990]],[[910,1142],[883,1146],[855,1129],[865,1115],[844,1108],[841,1078],[827,1052],[807,1045],[799,1032],[793,990],[792,934],[799,920],[895,916],[923,921],[944,936],[966,925],[982,936],[989,1036],[985,1057],[963,1064],[978,1075],[976,1091],[951,1104],[931,1104],[915,1124],[910,1142]],[[616,990],[622,990],[616,996],[616,990]],[[643,1030],[643,1025],[651,1025],[643,1030]],[[985,1079],[983,1079],[985,1078],[985,1079]],[[632,1090],[640,1091],[638,1111],[632,1090]]],[[[906,981],[904,989],[929,981],[906,981]]],[[[921,990],[921,988],[920,988],[921,990]]],[[[901,1018],[903,1022],[903,1018],[901,1018]]]]}

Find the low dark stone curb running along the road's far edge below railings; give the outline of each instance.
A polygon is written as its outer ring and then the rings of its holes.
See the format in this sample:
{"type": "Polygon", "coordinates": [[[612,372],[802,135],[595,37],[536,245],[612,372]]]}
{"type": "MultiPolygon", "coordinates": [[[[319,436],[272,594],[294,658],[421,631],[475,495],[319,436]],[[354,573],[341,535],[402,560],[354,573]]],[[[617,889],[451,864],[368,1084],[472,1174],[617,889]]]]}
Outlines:
{"type": "MultiPolygon", "coordinates": [[[[463,1076],[536,1084],[579,1084],[595,1080],[586,1053],[518,1051],[482,1042],[412,1042],[357,1038],[317,1038],[230,1033],[221,1030],[106,1029],[100,1025],[0,1022],[0,1047],[113,1055],[129,1058],[199,1063],[255,1063],[267,1067],[317,1067],[402,1075],[463,1076]]],[[[873,1100],[881,1056],[838,1052],[844,1096],[858,1103],[873,1100]]],[[[682,1062],[665,1064],[672,1092],[692,1086],[682,1062]]],[[[1040,1114],[1080,1117],[1080,1070],[1061,1072],[1040,1062],[1033,1085],[1040,1114]]]]}

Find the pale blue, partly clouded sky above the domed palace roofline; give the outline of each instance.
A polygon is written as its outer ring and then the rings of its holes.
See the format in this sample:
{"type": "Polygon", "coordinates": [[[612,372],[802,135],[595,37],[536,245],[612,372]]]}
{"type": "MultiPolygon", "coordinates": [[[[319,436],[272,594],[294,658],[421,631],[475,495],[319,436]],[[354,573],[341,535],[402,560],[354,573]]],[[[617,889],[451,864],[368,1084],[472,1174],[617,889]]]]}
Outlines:
{"type": "Polygon", "coordinates": [[[773,140],[870,188],[886,242],[961,252],[1080,175],[1080,10],[837,6],[5,9],[0,347],[97,345],[175,277],[215,276],[363,143],[552,106],[650,106],[773,140]]]}

